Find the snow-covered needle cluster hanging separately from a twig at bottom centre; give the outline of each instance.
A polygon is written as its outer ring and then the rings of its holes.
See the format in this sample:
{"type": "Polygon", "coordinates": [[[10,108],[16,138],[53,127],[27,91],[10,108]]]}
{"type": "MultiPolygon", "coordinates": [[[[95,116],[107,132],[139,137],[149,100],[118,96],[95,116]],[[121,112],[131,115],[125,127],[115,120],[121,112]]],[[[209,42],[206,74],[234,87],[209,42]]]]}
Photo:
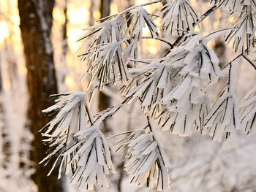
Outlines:
{"type": "Polygon", "coordinates": [[[154,139],[150,125],[133,131],[116,145],[124,149],[124,170],[131,177],[130,183],[140,187],[156,188],[165,191],[169,188],[169,162],[159,143],[154,139]]]}

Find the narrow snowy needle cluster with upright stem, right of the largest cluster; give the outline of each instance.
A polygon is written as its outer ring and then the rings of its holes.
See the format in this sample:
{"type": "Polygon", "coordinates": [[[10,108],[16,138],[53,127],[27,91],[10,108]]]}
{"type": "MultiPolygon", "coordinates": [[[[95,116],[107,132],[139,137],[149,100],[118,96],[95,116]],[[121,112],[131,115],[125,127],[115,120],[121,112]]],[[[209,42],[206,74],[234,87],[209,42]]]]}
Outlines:
{"type": "Polygon", "coordinates": [[[219,93],[205,118],[204,133],[209,134],[214,141],[221,141],[223,133],[226,133],[227,139],[236,128],[240,128],[234,87],[236,60],[230,62],[227,85],[219,93]]]}

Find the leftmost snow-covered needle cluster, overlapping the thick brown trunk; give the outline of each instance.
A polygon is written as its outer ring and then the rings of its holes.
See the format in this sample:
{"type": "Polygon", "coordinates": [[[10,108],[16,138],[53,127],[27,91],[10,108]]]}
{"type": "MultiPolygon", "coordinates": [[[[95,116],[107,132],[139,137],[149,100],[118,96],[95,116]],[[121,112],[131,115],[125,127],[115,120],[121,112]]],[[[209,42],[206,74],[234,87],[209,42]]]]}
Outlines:
{"type": "Polygon", "coordinates": [[[56,99],[56,104],[42,112],[45,115],[58,114],[40,130],[42,136],[47,138],[44,140],[45,143],[48,143],[52,150],[41,163],[48,164],[55,158],[49,174],[56,164],[59,164],[59,177],[61,177],[62,169],[65,174],[74,172],[76,169],[75,163],[69,164],[80,145],[74,134],[91,124],[91,115],[86,104],[86,93],[69,92],[53,96],[59,96],[59,99],[56,99]],[[67,150],[69,153],[63,155],[67,150]]]}

